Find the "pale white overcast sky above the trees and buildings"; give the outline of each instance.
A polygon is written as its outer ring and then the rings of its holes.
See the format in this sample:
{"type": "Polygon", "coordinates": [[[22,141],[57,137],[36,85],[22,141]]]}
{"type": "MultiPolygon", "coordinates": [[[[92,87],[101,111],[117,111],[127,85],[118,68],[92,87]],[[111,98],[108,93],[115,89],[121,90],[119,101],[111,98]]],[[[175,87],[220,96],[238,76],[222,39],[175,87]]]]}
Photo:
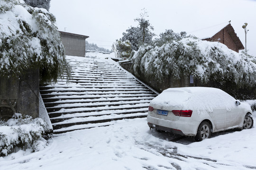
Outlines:
{"type": "Polygon", "coordinates": [[[66,27],[66,32],[87,35],[88,42],[111,49],[128,27],[138,25],[134,19],[143,8],[157,35],[165,29],[191,33],[231,20],[245,46],[242,25],[247,22],[247,50],[256,56],[256,0],[51,0],[50,12],[60,31],[66,27]]]}

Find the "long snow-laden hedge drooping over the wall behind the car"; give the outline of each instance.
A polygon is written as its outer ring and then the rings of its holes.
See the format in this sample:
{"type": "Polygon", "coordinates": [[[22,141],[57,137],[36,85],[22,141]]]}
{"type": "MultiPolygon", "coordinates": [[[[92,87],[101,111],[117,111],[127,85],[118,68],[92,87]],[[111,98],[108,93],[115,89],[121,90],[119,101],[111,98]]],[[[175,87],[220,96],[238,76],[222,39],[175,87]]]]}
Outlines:
{"type": "Polygon", "coordinates": [[[240,99],[256,94],[254,57],[232,51],[219,42],[184,35],[167,30],[154,45],[141,46],[131,57],[135,75],[162,83],[166,77],[181,79],[192,75],[199,85],[221,88],[240,99]],[[241,91],[247,96],[240,95],[241,91]]]}

